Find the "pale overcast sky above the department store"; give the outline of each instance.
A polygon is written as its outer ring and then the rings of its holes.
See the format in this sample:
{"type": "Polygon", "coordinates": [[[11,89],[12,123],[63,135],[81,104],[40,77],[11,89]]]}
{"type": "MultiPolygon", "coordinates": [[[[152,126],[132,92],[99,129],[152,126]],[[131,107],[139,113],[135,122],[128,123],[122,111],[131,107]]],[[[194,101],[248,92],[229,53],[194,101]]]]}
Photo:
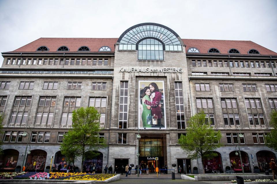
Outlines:
{"type": "Polygon", "coordinates": [[[118,38],[143,22],[182,39],[251,40],[277,52],[276,0],[0,0],[0,52],[40,37],[118,38]]]}

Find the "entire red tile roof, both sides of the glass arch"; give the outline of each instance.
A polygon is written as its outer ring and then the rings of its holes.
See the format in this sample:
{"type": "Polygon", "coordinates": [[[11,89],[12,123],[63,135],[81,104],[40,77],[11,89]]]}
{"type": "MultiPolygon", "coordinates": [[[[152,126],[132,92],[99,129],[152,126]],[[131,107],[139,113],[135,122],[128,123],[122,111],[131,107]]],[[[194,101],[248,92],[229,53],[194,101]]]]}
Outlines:
{"type": "MultiPolygon", "coordinates": [[[[273,52],[257,43],[252,41],[234,41],[234,40],[203,40],[203,39],[182,39],[186,45],[186,52],[190,47],[197,48],[200,53],[207,54],[210,48],[216,48],[221,54],[228,54],[229,49],[237,49],[241,54],[248,54],[250,49],[256,49],[261,55],[277,55],[273,52]]],[[[56,52],[61,46],[67,46],[68,52],[76,52],[79,47],[87,46],[90,48],[90,52],[98,52],[100,47],[108,46],[111,51],[115,51],[115,43],[117,38],[40,38],[23,47],[20,47],[14,51],[6,53],[32,53],[35,52],[38,47],[46,46],[49,52],[56,52]]],[[[63,52],[63,51],[61,51],[63,52]]]]}

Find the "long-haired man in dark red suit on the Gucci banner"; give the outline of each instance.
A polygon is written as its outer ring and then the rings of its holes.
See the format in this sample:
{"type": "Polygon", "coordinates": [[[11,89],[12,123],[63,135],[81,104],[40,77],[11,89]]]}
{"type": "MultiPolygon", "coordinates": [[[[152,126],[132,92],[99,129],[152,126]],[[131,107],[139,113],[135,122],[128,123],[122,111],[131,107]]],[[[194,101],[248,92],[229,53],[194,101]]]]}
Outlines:
{"type": "Polygon", "coordinates": [[[153,123],[153,127],[161,127],[161,119],[162,119],[162,110],[160,106],[160,101],[162,99],[162,93],[160,92],[158,85],[156,83],[150,83],[149,88],[151,91],[150,99],[151,101],[148,101],[146,99],[142,99],[142,102],[146,105],[151,106],[151,114],[152,116],[157,116],[158,123],[155,125],[153,123]]]}

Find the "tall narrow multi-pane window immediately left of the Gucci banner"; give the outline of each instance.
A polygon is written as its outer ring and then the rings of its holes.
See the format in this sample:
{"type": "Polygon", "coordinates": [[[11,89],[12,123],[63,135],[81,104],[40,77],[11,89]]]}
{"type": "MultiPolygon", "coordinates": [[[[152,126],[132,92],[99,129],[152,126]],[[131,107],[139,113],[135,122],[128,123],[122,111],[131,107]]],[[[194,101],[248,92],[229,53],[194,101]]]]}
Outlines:
{"type": "Polygon", "coordinates": [[[119,129],[127,129],[128,82],[120,82],[119,95],[119,129]]]}

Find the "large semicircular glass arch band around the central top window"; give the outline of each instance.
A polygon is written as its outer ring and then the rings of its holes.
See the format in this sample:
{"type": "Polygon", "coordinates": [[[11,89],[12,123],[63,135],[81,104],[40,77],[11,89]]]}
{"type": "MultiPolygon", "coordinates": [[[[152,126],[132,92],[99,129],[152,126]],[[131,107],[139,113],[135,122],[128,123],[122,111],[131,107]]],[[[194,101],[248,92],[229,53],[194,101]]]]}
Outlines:
{"type": "Polygon", "coordinates": [[[172,29],[156,23],[137,24],[124,31],[117,44],[119,50],[137,50],[138,43],[144,39],[154,38],[164,45],[164,50],[182,51],[183,41],[172,29]],[[173,47],[173,45],[176,45],[173,47]]]}

